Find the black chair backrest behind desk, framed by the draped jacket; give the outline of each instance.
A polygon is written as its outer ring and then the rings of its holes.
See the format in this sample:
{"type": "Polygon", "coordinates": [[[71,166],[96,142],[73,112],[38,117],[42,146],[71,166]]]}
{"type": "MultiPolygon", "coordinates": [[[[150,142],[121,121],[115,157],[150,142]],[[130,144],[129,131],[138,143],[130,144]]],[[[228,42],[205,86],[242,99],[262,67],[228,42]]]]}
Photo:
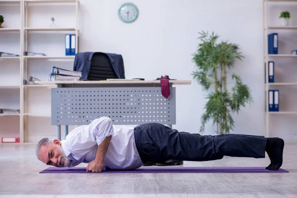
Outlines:
{"type": "Polygon", "coordinates": [[[91,60],[91,67],[88,80],[106,80],[108,78],[117,79],[116,73],[110,63],[108,56],[101,52],[94,53],[91,60]]]}

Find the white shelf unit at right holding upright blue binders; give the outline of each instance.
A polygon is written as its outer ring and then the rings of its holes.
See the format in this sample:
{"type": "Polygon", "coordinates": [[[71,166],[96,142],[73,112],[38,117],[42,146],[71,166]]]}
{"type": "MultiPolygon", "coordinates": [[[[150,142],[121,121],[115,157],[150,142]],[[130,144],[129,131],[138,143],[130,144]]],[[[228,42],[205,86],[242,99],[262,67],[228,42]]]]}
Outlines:
{"type": "MultiPolygon", "coordinates": [[[[265,101],[265,115],[264,115],[264,129],[265,129],[265,136],[266,137],[270,137],[270,133],[269,133],[269,115],[271,114],[288,114],[288,115],[297,115],[297,111],[269,111],[269,100],[268,100],[268,91],[270,90],[271,86],[281,86],[281,87],[287,87],[287,86],[296,86],[297,87],[297,83],[279,83],[279,82],[275,82],[275,83],[268,83],[268,61],[269,58],[297,58],[297,55],[295,54],[286,54],[286,53],[279,53],[279,54],[268,54],[268,34],[269,34],[269,30],[273,30],[275,33],[277,33],[278,31],[294,31],[297,30],[297,26],[282,26],[282,25],[273,25],[270,26],[268,25],[268,5],[269,3],[297,3],[297,0],[263,0],[263,60],[265,63],[265,76],[266,76],[266,80],[265,80],[265,97],[264,97],[264,101],[265,101]]],[[[296,4],[297,5],[297,4],[296,4]]],[[[285,5],[286,6],[286,5],[285,5]]],[[[291,12],[291,18],[292,18],[292,13],[291,12]]],[[[280,13],[278,13],[280,14],[280,13]]],[[[293,14],[294,16],[294,14],[293,14]]],[[[278,16],[277,16],[278,17],[278,16]]],[[[278,38],[280,39],[280,37],[278,38]]],[[[280,52],[280,48],[278,45],[278,49],[280,52]]],[[[276,64],[275,64],[276,65],[276,64]]],[[[274,73],[275,76],[275,73],[274,73]]],[[[281,91],[279,93],[281,95],[281,91]]],[[[279,101],[280,102],[280,101],[279,101]]],[[[280,102],[281,103],[281,102],[280,102]]]]}

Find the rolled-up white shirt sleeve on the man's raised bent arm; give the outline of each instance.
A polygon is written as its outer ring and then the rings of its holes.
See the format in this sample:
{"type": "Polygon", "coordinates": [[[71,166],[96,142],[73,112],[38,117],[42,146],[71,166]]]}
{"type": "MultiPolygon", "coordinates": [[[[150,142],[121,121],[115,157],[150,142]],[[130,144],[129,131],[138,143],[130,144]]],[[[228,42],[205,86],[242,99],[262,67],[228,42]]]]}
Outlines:
{"type": "Polygon", "coordinates": [[[114,133],[112,120],[105,116],[95,119],[89,124],[88,131],[94,135],[97,145],[100,145],[106,137],[114,133]]]}

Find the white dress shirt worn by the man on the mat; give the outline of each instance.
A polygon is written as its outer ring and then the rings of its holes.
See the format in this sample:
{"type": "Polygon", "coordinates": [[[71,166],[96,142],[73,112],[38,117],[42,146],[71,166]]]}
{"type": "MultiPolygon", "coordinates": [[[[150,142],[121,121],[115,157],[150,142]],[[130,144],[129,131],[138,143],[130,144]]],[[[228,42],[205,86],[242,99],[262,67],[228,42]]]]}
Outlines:
{"type": "Polygon", "coordinates": [[[136,169],[142,166],[143,162],[135,146],[134,130],[124,126],[116,129],[112,120],[103,116],[89,125],[73,129],[61,141],[63,151],[72,160],[68,167],[93,161],[97,146],[107,136],[111,136],[111,140],[104,158],[105,169],[136,169]]]}

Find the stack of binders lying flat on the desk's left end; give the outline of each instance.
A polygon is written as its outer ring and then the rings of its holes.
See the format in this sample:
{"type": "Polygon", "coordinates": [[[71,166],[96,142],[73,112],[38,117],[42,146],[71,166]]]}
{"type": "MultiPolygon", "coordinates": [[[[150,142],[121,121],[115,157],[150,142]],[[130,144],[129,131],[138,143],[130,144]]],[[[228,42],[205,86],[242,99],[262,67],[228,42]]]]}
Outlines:
{"type": "Polygon", "coordinates": [[[52,67],[49,81],[79,81],[81,77],[82,72],[52,67]]]}

